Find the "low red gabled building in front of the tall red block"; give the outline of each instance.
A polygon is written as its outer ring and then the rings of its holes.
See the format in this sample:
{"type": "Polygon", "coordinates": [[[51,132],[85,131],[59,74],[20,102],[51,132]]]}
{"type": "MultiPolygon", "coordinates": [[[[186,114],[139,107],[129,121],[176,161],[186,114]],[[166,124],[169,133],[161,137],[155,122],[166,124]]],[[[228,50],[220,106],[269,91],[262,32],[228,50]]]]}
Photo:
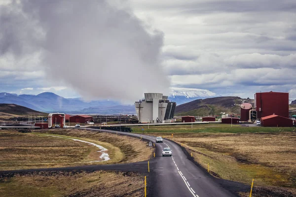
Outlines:
{"type": "Polygon", "coordinates": [[[278,116],[278,115],[270,115],[261,118],[261,125],[263,127],[293,127],[293,120],[278,116]]]}

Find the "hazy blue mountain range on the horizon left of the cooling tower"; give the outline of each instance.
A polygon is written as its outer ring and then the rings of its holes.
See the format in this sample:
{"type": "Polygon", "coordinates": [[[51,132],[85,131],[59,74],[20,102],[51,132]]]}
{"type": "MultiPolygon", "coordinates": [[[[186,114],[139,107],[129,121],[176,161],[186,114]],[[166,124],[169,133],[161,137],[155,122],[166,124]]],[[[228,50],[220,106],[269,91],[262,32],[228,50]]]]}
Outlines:
{"type": "Polygon", "coordinates": [[[121,109],[126,112],[136,110],[130,105],[121,105],[113,100],[94,100],[84,101],[80,98],[66,99],[54,93],[44,92],[39,95],[16,95],[10,93],[0,93],[0,103],[11,103],[22,105],[37,111],[47,113],[64,112],[64,113],[100,113],[113,114],[114,111],[120,113],[121,109]]]}

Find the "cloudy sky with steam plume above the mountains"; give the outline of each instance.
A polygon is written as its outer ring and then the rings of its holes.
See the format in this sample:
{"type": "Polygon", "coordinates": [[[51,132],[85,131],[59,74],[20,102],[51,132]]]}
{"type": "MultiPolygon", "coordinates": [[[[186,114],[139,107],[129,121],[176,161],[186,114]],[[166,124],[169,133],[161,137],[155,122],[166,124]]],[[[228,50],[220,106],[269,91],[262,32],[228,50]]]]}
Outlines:
{"type": "Polygon", "coordinates": [[[296,99],[295,0],[1,2],[0,92],[132,100],[184,87],[296,99]]]}

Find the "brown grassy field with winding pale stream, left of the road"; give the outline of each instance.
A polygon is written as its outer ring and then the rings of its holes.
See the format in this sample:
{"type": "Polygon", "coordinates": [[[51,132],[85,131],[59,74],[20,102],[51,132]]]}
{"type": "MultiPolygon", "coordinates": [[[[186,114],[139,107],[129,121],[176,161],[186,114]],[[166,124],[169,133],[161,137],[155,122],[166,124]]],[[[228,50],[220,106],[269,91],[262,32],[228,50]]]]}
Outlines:
{"type": "Polygon", "coordinates": [[[36,133],[0,130],[0,170],[115,164],[145,161],[152,154],[146,142],[128,136],[83,130],[55,130],[36,133]],[[99,148],[72,139],[99,144],[108,149],[111,160],[100,160],[99,148]],[[131,139],[133,142],[131,143],[131,139]]]}

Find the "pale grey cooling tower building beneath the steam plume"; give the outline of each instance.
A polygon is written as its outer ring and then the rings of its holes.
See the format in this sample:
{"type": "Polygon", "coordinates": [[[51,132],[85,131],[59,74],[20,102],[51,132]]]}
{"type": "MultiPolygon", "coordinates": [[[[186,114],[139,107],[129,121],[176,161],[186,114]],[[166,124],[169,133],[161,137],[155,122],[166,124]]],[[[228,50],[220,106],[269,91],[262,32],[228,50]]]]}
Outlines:
{"type": "Polygon", "coordinates": [[[174,118],[176,102],[170,102],[160,93],[145,93],[145,99],[136,101],[139,123],[164,123],[174,118]]]}

